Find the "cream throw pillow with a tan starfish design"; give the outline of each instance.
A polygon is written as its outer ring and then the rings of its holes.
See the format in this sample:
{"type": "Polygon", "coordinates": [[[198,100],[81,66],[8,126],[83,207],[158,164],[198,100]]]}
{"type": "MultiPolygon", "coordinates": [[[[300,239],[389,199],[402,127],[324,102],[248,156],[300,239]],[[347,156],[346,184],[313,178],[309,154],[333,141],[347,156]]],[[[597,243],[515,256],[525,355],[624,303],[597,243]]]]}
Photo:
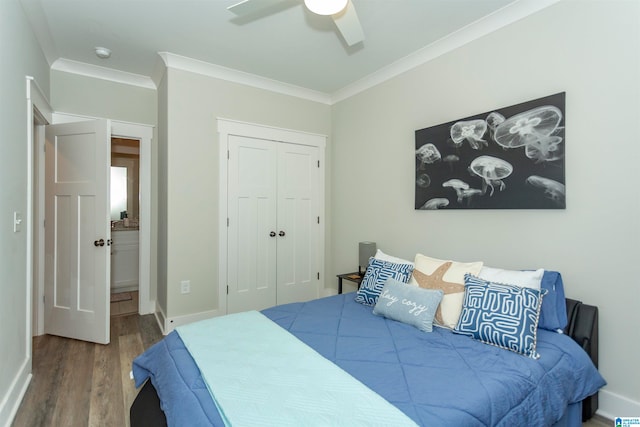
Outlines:
{"type": "Polygon", "coordinates": [[[478,274],[482,262],[445,261],[417,254],[415,269],[410,283],[425,289],[440,289],[444,292],[436,312],[435,324],[453,329],[458,323],[464,299],[464,275],[478,274]]]}

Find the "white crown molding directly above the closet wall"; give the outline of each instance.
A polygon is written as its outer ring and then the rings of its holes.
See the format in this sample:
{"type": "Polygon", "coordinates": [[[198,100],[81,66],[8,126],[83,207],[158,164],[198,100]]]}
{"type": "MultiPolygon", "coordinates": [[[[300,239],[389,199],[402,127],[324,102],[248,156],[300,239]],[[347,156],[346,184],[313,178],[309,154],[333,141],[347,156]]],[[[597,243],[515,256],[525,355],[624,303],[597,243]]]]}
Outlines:
{"type": "Polygon", "coordinates": [[[295,96],[297,98],[307,99],[323,104],[331,104],[331,96],[324,92],[306,89],[300,86],[295,86],[277,80],[268,79],[266,77],[261,77],[256,74],[222,67],[220,65],[199,61],[197,59],[187,58],[185,56],[176,55],[170,52],[158,52],[158,55],[160,55],[167,68],[189,71],[192,73],[226,80],[233,83],[252,86],[258,89],[269,90],[272,92],[295,96]]]}

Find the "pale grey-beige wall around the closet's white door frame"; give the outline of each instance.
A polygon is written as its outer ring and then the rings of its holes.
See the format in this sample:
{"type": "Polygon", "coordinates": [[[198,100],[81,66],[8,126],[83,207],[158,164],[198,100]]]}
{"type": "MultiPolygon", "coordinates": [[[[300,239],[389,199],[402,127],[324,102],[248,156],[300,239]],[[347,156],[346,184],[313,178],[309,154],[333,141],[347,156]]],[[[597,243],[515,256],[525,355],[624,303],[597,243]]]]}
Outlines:
{"type": "Polygon", "coordinates": [[[166,263],[159,262],[158,278],[166,276],[166,283],[158,286],[166,288],[161,308],[174,319],[219,307],[216,118],[325,135],[331,129],[325,104],[175,68],[165,79],[167,139],[160,143],[166,143],[166,168],[159,180],[166,180],[166,213],[160,214],[166,214],[166,230],[159,236],[166,233],[166,242],[159,247],[166,245],[166,263]],[[190,294],[180,293],[181,280],[191,281],[190,294]]]}

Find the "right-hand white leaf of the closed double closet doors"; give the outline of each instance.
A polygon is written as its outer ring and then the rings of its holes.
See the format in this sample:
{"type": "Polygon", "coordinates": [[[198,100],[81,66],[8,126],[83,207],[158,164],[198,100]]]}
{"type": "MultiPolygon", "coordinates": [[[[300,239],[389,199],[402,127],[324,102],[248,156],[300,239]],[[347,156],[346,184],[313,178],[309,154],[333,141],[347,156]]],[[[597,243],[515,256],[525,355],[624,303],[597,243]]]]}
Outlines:
{"type": "Polygon", "coordinates": [[[318,149],[278,144],[278,304],[318,298],[318,149]]]}

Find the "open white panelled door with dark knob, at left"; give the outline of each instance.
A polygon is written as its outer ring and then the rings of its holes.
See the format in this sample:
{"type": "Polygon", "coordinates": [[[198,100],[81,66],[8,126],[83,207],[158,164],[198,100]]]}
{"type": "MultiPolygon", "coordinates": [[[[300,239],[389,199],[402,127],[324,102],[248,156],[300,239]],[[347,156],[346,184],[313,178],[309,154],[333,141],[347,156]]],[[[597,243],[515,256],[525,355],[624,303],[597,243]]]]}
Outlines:
{"type": "Polygon", "coordinates": [[[109,343],[108,120],[50,125],[45,144],[44,330],[109,343]]]}

